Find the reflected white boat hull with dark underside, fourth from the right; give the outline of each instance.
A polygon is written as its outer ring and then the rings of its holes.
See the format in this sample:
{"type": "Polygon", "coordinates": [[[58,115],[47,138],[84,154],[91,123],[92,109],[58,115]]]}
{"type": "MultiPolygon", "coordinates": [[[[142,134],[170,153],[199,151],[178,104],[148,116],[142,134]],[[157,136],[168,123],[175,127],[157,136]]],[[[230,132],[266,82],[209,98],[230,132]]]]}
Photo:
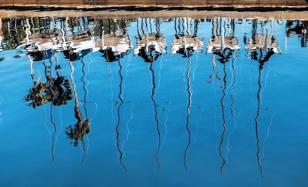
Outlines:
{"type": "Polygon", "coordinates": [[[142,57],[145,62],[154,62],[159,56],[166,52],[166,41],[164,36],[159,33],[159,20],[155,19],[155,31],[152,31],[152,24],[148,27],[148,21],[151,23],[152,19],[141,19],[141,27],[139,28],[139,20],[137,20],[138,36],[135,36],[136,48],[134,54],[142,57]],[[145,24],[145,30],[144,30],[145,24]],[[140,29],[142,30],[140,32],[140,29]]]}

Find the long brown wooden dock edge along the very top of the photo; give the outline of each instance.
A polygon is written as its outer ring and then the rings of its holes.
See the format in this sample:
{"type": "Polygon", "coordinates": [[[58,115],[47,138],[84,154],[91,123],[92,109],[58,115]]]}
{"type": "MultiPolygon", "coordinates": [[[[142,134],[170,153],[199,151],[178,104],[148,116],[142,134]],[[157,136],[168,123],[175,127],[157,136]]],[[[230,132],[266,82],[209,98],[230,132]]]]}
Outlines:
{"type": "Polygon", "coordinates": [[[0,7],[308,7],[308,0],[0,0],[0,7]]]}

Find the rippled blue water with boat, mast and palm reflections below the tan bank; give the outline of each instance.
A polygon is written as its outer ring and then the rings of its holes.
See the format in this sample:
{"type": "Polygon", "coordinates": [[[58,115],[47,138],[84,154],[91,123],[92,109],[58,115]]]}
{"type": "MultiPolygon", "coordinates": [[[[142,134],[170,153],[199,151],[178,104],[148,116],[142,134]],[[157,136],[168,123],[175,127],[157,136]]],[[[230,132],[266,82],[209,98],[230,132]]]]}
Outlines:
{"type": "Polygon", "coordinates": [[[307,22],[0,24],[1,187],[307,186],[307,22]]]}

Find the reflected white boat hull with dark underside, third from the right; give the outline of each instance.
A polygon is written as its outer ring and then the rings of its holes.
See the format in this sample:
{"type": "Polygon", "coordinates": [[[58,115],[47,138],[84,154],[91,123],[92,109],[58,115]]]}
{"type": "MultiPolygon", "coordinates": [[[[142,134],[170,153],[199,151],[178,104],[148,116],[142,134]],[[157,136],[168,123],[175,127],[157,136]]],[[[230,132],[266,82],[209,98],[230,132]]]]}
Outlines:
{"type": "Polygon", "coordinates": [[[188,26],[192,25],[191,19],[179,19],[178,26],[176,20],[177,19],[175,19],[176,34],[172,38],[171,54],[179,53],[182,54],[183,57],[187,57],[190,56],[193,51],[200,51],[203,49],[203,39],[197,36],[199,20],[194,20],[193,32],[188,28],[188,26]],[[179,31],[177,28],[179,28],[179,31]]]}

